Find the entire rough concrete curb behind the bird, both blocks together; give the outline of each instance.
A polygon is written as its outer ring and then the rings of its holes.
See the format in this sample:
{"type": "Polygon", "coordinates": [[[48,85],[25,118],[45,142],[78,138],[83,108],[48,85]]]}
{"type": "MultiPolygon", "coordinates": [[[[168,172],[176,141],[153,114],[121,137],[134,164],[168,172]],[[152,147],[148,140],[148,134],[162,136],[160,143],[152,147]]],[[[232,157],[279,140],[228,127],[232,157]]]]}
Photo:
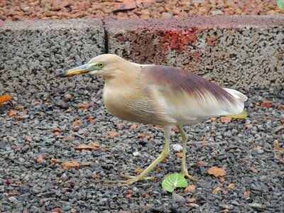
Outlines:
{"type": "MultiPolygon", "coordinates": [[[[54,73],[102,53],[185,67],[230,87],[284,82],[284,16],[7,22],[0,40],[4,92],[39,89],[54,73]]],[[[91,85],[89,79],[72,79],[68,86],[91,85]]],[[[48,87],[58,82],[66,84],[48,87]]]]}

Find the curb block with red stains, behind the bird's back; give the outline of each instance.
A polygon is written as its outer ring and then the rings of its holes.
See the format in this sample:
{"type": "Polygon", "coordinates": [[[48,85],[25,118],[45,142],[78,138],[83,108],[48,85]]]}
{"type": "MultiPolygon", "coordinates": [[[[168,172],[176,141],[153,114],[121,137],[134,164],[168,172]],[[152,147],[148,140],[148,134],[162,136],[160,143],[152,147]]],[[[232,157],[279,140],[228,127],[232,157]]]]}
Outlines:
{"type": "Polygon", "coordinates": [[[282,84],[284,16],[109,20],[109,53],[184,67],[224,86],[282,84]]]}

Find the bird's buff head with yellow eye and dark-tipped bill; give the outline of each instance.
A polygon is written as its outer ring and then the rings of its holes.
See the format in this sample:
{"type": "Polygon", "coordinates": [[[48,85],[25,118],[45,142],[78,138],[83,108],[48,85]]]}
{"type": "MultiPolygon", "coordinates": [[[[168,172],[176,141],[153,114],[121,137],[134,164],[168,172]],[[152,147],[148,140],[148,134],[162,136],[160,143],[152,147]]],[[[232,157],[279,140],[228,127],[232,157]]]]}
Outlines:
{"type": "Polygon", "coordinates": [[[79,67],[72,68],[65,72],[61,72],[57,77],[72,77],[74,75],[99,75],[102,77],[111,77],[119,68],[121,62],[124,62],[123,58],[114,54],[103,54],[93,58],[87,64],[79,67]]]}

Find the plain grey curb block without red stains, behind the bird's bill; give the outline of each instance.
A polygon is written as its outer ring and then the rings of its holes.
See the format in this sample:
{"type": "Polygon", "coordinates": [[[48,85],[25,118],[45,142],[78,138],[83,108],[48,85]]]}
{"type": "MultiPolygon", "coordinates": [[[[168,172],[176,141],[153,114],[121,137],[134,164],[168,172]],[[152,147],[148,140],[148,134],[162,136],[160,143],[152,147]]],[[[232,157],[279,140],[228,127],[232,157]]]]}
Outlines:
{"type": "Polygon", "coordinates": [[[68,81],[50,77],[105,51],[99,19],[8,22],[0,26],[0,40],[0,91],[9,94],[89,84],[89,77],[68,81]]]}

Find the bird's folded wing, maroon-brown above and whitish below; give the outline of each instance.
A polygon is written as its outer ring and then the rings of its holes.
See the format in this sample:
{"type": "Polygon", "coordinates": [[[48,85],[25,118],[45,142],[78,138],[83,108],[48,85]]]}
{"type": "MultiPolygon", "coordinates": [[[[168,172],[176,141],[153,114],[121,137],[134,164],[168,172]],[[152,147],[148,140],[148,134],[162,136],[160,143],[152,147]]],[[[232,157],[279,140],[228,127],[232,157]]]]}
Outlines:
{"type": "Polygon", "coordinates": [[[247,99],[241,92],[223,89],[192,72],[175,67],[141,66],[141,75],[143,87],[149,95],[155,96],[160,112],[181,123],[239,114],[247,99]]]}

